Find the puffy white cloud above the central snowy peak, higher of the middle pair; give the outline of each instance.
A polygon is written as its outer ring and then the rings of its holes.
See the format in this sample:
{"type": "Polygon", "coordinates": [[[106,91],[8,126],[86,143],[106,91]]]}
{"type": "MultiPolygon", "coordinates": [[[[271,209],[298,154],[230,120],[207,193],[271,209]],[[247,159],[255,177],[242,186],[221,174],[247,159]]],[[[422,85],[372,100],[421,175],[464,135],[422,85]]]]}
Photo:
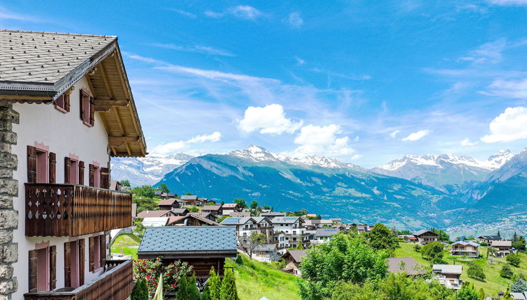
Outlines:
{"type": "Polygon", "coordinates": [[[247,107],[243,119],[238,121],[238,128],[246,133],[260,130],[260,133],[280,135],[294,133],[302,123],[303,121],[287,119],[282,105],[271,104],[265,107],[247,107]]]}

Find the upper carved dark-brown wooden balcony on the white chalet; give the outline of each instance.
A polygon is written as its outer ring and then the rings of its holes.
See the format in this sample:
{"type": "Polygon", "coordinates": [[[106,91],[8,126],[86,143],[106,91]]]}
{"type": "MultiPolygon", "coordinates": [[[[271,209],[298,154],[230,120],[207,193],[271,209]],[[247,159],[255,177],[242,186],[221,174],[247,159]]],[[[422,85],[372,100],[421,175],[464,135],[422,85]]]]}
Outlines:
{"type": "Polygon", "coordinates": [[[131,226],[131,194],[75,184],[25,186],[27,237],[73,237],[131,226]]]}

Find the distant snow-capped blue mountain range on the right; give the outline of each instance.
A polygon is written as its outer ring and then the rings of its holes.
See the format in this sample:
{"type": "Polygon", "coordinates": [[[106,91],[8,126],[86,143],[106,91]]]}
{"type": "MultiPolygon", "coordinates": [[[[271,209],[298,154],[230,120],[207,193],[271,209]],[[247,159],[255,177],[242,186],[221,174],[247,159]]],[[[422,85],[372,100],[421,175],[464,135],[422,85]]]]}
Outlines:
{"type": "Polygon", "coordinates": [[[502,150],[479,161],[470,156],[453,154],[406,155],[387,165],[375,167],[373,172],[435,186],[445,191],[467,190],[474,183],[484,181],[493,171],[510,160],[514,154],[502,150]],[[453,188],[454,187],[454,188],[453,188]]]}

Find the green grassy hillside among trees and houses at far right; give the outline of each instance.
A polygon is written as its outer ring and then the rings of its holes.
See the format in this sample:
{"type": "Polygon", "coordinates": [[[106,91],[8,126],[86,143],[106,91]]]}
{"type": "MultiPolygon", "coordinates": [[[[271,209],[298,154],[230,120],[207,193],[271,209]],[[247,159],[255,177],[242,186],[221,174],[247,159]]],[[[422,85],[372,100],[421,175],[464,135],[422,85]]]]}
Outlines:
{"type": "MultiPolygon", "coordinates": [[[[463,273],[461,274],[461,280],[473,283],[476,290],[483,288],[487,296],[496,297],[498,292],[505,291],[505,289],[507,288],[507,284],[512,284],[512,281],[510,279],[503,278],[500,276],[500,269],[505,263],[505,258],[489,257],[489,260],[487,260],[485,258],[486,247],[479,248],[479,255],[482,255],[482,258],[478,258],[477,260],[473,261],[483,268],[483,271],[486,276],[485,281],[475,280],[467,276],[466,272],[468,268],[468,262],[462,262],[456,259],[455,257],[452,257],[447,254],[445,254],[444,260],[445,263],[448,264],[454,264],[454,261],[456,262],[456,264],[463,264],[463,273]]],[[[421,257],[420,253],[415,252],[414,244],[412,243],[400,243],[400,248],[396,249],[394,256],[410,256],[413,257],[414,260],[416,260],[420,264],[423,264],[424,266],[428,267],[430,265],[430,262],[424,260],[423,257],[421,257]]],[[[512,271],[514,273],[524,273],[524,276],[527,277],[527,255],[525,253],[521,253],[520,267],[512,267],[512,271]]]]}

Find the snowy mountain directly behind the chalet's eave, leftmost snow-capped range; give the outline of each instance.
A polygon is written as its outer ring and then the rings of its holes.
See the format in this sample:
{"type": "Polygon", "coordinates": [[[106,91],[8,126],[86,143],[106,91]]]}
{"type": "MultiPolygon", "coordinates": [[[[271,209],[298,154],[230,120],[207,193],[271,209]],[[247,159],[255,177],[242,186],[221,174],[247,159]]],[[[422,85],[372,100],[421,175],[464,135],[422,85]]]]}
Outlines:
{"type": "Polygon", "coordinates": [[[149,155],[144,158],[112,158],[112,179],[128,179],[133,186],[152,185],[161,180],[164,174],[187,163],[193,157],[178,153],[170,156],[149,155]]]}

